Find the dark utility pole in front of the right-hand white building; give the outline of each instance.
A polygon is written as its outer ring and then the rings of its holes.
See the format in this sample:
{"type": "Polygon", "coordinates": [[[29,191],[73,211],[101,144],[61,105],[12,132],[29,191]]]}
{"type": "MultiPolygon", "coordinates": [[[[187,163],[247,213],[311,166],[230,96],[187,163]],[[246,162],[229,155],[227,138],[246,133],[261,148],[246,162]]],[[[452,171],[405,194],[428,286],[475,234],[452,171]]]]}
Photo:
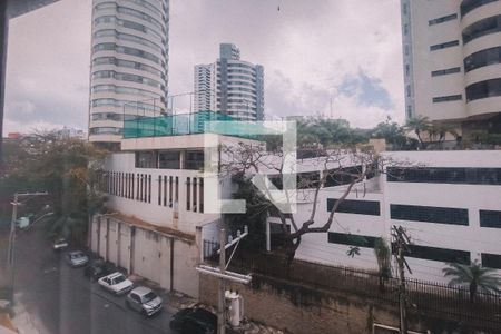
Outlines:
{"type": "Polygon", "coordinates": [[[400,333],[407,334],[407,314],[406,314],[406,302],[407,297],[405,294],[405,267],[409,273],[412,274],[411,268],[409,267],[407,262],[405,261],[405,252],[409,254],[411,250],[407,245],[411,243],[409,236],[402,226],[393,226],[392,236],[395,240],[396,247],[396,263],[399,265],[399,306],[400,306],[400,333]],[[405,266],[405,267],[404,267],[405,266]]]}

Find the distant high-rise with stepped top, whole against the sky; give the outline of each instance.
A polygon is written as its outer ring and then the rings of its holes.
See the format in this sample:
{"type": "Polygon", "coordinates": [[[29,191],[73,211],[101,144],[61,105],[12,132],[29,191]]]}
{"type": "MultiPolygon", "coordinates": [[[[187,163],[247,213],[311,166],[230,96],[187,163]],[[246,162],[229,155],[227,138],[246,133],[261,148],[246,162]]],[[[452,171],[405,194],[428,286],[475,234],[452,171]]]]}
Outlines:
{"type": "Polygon", "coordinates": [[[219,59],[194,71],[195,111],[213,110],[240,120],[264,118],[264,68],[240,60],[235,45],[222,43],[219,59]]]}

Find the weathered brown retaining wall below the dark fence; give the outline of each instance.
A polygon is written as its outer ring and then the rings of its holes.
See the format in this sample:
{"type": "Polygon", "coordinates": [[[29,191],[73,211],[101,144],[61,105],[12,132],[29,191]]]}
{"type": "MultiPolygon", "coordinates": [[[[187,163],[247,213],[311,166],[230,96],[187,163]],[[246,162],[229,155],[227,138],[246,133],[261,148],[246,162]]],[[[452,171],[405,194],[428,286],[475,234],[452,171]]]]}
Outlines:
{"type": "MultiPolygon", "coordinates": [[[[217,305],[217,278],[200,275],[200,302],[217,305]]],[[[399,326],[395,306],[343,293],[307,292],[281,282],[281,289],[263,284],[253,289],[228,284],[244,297],[245,316],[293,334],[372,333],[372,323],[399,326]],[[297,298],[291,298],[291,293],[297,298]],[[318,297],[322,294],[322,297],[318,297]]],[[[411,327],[415,330],[415,326],[411,327]]]]}

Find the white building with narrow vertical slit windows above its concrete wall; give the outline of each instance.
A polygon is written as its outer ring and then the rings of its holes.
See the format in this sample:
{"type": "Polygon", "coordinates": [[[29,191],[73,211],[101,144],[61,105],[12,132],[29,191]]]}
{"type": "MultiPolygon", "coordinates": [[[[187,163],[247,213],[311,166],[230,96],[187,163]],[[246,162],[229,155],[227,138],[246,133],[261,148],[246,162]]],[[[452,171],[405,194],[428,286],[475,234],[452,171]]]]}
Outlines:
{"type": "Polygon", "coordinates": [[[209,202],[230,198],[232,189],[229,179],[204,173],[208,141],[253,143],[214,134],[122,139],[121,151],[105,161],[108,214],[90,223],[92,252],[163,288],[198,296],[195,268],[204,240],[218,243],[223,217],[209,202]]]}

